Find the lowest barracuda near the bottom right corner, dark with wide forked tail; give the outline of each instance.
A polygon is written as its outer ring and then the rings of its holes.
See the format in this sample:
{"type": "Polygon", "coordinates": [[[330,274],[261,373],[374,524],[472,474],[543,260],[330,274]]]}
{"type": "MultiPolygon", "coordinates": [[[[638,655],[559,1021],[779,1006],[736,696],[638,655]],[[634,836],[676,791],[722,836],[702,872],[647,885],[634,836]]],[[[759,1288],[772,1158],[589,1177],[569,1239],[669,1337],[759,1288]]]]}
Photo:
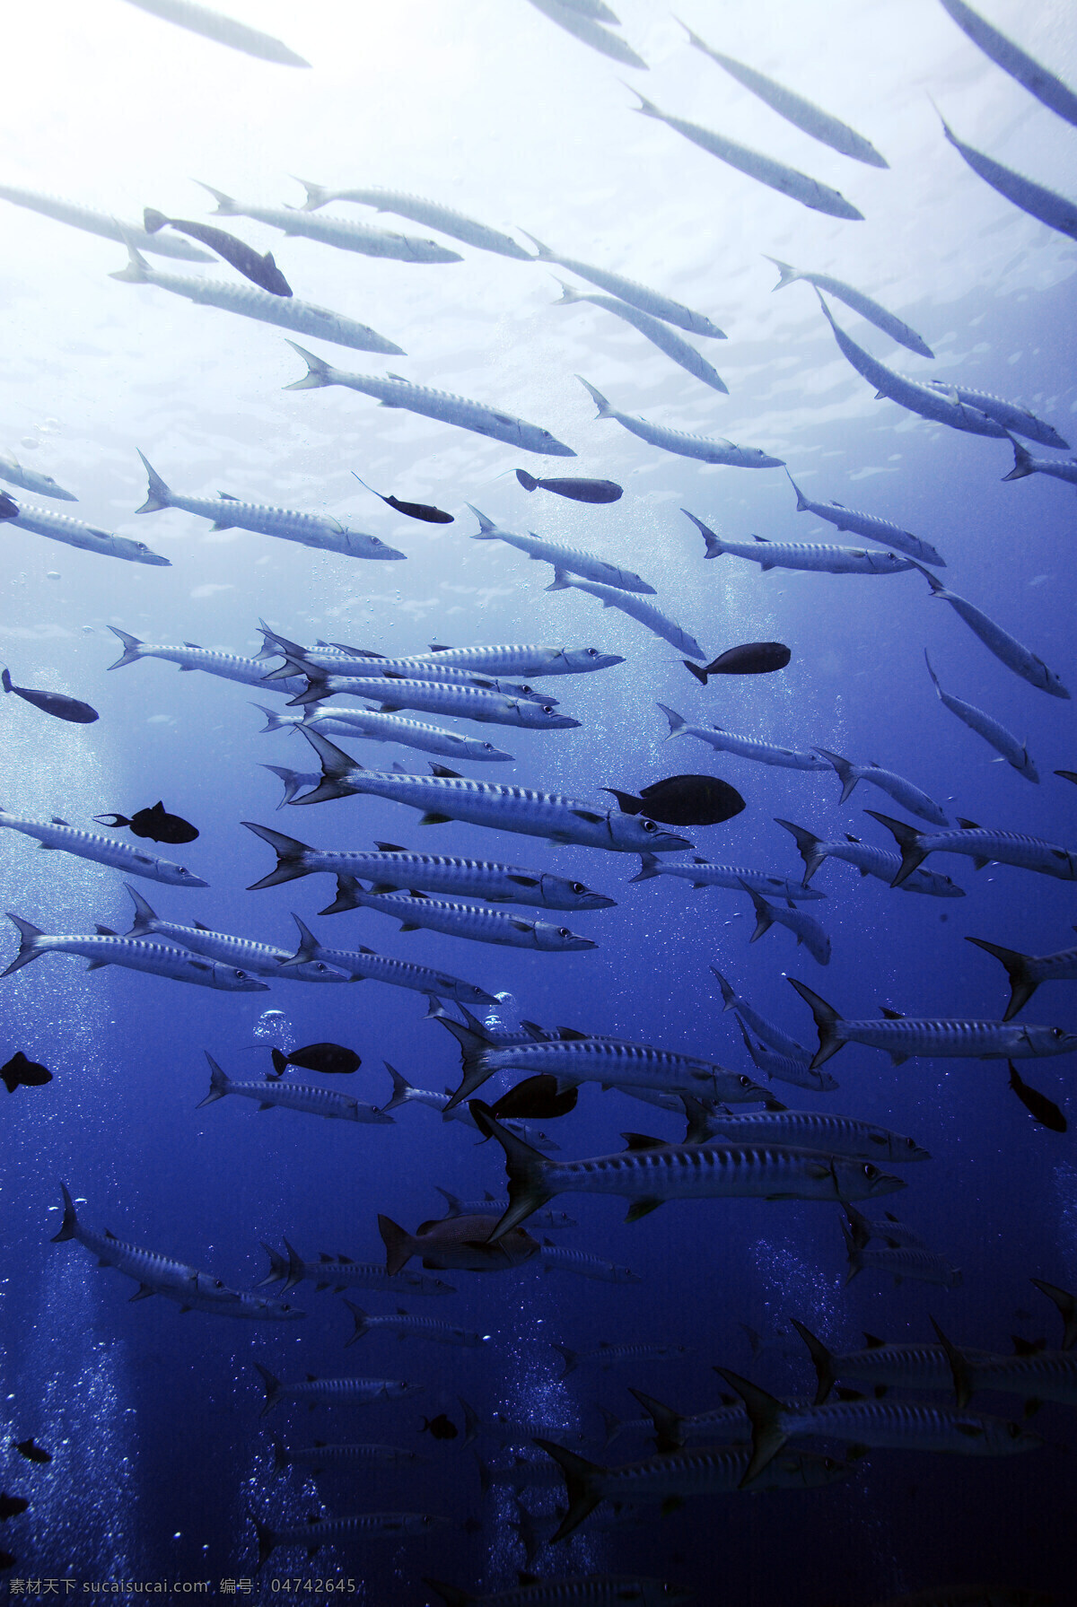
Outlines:
{"type": "Polygon", "coordinates": [[[1003,1417],[916,1403],[828,1401],[789,1409],[739,1374],[727,1368],[715,1371],[743,1398],[752,1422],[752,1459],[744,1485],[767,1467],[788,1440],[805,1433],[894,1451],[945,1451],[955,1456],[1016,1456],[1043,1445],[1038,1433],[1029,1433],[1003,1417]]]}

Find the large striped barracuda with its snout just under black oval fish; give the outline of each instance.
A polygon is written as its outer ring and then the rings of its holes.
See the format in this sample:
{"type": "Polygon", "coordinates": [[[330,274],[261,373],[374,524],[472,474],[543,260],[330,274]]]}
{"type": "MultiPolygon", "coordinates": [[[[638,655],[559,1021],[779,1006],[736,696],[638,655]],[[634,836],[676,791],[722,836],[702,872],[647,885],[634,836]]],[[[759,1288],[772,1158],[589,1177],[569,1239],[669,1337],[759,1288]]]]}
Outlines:
{"type": "Polygon", "coordinates": [[[445,771],[442,765],[431,767],[434,770],[431,776],[365,770],[317,731],[304,730],[302,734],[321,760],[323,781],[301,799],[301,804],[321,804],[325,799],[367,792],[407,804],[410,808],[421,808],[424,815],[420,824],[428,826],[461,820],[473,826],[493,826],[556,844],[574,842],[584,848],[608,848],[616,853],[643,850],[677,853],[680,848],[691,848],[683,837],[675,837],[643,815],[596,810],[559,792],[534,792],[530,787],[502,786],[497,781],[468,781],[445,771]]]}

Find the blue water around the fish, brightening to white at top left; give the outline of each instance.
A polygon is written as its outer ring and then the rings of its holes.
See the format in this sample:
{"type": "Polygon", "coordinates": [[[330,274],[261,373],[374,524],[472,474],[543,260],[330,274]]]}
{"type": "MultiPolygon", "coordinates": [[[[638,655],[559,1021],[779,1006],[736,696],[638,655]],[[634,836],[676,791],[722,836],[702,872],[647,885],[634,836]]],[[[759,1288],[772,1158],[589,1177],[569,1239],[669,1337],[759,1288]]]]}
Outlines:
{"type": "MultiPolygon", "coordinates": [[[[191,175],[264,204],[297,202],[289,174],[415,191],[498,228],[524,225],[569,256],[707,312],[730,339],[696,344],[731,394],[706,391],[598,309],[555,310],[556,286],[542,267],[468,246],[450,267],[386,264],[286,241],[240,219],[227,225],[275,251],[297,296],[370,321],[408,352],[379,358],[318,346],[339,368],[403,373],[495,402],[579,453],[521,456],[379,410],[349,391],[283,394],[301,363],[280,331],[116,284],[108,275],[122,265],[122,247],[5,209],[0,448],[77,493],[77,505],[55,508],[137,535],[172,567],[122,566],[3,525],[3,660],[16,683],[88,699],[101,718],[87,728],[61,725],[3,699],[0,804],[87,826],[104,810],[130,813],[162,797],[201,836],[159,852],[211,884],[204,892],[140,884],[166,919],[198,919],[291,948],[294,910],[326,945],[367,943],[439,966],[511,995],[524,1017],[543,1025],[651,1041],[738,1070],[751,1067],[735,1017],[722,1012],[710,963],[805,1045],[815,1041],[810,1014],[784,974],[849,1017],[887,1006],[997,1019],[1008,996],[1001,967],[964,935],[1026,953],[1066,948],[1074,922],[1067,884],[932,860],[966,890],[963,900],[944,902],[891,892],[828,861],[815,879],[826,900],[801,906],[833,940],[833,961],[821,969],[784,929],[749,947],[751,908],[739,893],[691,892],[672,877],[629,885],[637,869],[630,857],[463,824],[420,829],[415,813],[376,799],[276,813],[280,784],[259,767],[312,768],[301,739],[260,734],[251,702],[276,699],[156,660],[108,675],[119,644],[106,627],[233,652],[257,651],[259,615],[299,641],[325,636],[379,652],[426,651],[432,641],[556,641],[619,652],[625,662],[614,670],[547,683],[580,720],[575,731],[444,723],[516,755],[514,765],[476,765],[469,775],[595,802],[603,786],[635,791],[678,771],[722,776],[743,794],[744,812],[686,832],[714,860],[796,876],[801,861],[773,816],[821,837],[854,832],[884,842],[863,810],[903,812],[866,783],[839,807],[833,775],[765,768],[690,738],[665,746],[657,702],[693,723],[874,759],[955,818],[1072,845],[1074,792],[1053,775],[1077,767],[1072,704],[1008,672],[915,572],[762,574],[736,558],[704,564],[682,506],[730,538],[855,538],[796,514],[780,469],[702,468],[643,445],[616,423],[593,421],[572,374],[585,374],[627,411],[764,447],[788,461],[805,495],[878,513],[932,542],[947,558],[947,583],[1072,686],[1072,489],[1045,476],[1003,485],[1006,442],[955,434],[871,400],[836,350],[813,292],[794,284],[772,296],[773,270],[762,254],[878,296],[937,354],[934,363],[913,357],[836,305],[842,328],[882,362],[1021,399],[1072,439],[1074,246],[974,178],[942,141],[926,95],[973,145],[1059,190],[1072,190],[1074,130],[982,58],[932,0],[874,8],[829,0],[810,10],[765,0],[698,6],[686,18],[715,48],[847,119],[891,161],[889,172],[860,167],[780,122],[690,51],[670,18],[645,0],[620,0],[624,34],[651,63],[646,93],[839,186],[866,217],[842,223],[733,174],[661,124],[633,119],[617,82],[625,69],[526,0],[399,0],[381,11],[323,0],[309,14],[281,0],[231,0],[230,11],[286,39],[313,69],[240,56],[121,0],[61,0],[48,14],[34,10],[13,21],[10,117],[0,130],[5,182],[129,219],[145,204],[204,217],[191,175]],[[135,519],[145,497],[137,447],[177,490],[347,514],[403,550],[408,562],[383,569],[262,535],[209,535],[203,521],[178,511],[135,519]],[[537,474],[611,477],[625,495],[593,509],[527,497],[508,472],[524,464],[537,474]],[[450,509],[455,522],[402,519],[358,489],[352,469],[378,490],[450,509]],[[473,545],[466,501],[510,529],[534,529],[637,569],[656,585],[657,604],[712,654],[741,641],[786,641],[789,669],[696,686],[678,656],[635,622],[582,595],[547,596],[548,566],[497,543],[473,545]],[[990,749],[937,702],[924,648],[948,691],[1027,741],[1038,787],[992,763],[990,749]],[[585,955],[399,935],[375,913],[318,921],[331,895],[325,877],[246,892],[272,869],[272,853],[241,820],[320,847],[389,839],[550,868],[611,893],[617,908],[567,918],[600,943],[585,955]]],[[[1043,5],[1029,16],[1016,0],[997,0],[990,16],[1053,71],[1077,77],[1066,6],[1043,5]]],[[[641,74],[637,80],[645,82],[641,74]]],[[[429,233],[360,207],[326,211],[429,233]]],[[[217,273],[211,265],[159,265],[217,273]]],[[[395,760],[424,770],[424,755],[402,747],[341,746],[368,767],[395,760]]],[[[45,930],[130,924],[119,873],[39,853],[14,832],[0,852],[3,906],[45,930]]],[[[13,955],[5,940],[5,963],[13,955]]],[[[1006,1086],[1005,1064],[915,1059],[894,1069],[876,1051],[850,1046],[828,1065],[841,1083],[836,1093],[817,1098],[786,1085],[775,1093],[794,1107],[881,1122],[931,1151],[931,1162],[902,1168],[908,1188],[871,1213],[892,1205],[963,1270],[960,1289],[894,1287],[870,1271],[846,1287],[831,1205],[675,1202],[629,1226],[619,1200],[566,1196],[555,1204],[579,1226],[556,1242],[627,1265],[643,1282],[611,1287],[532,1263],[489,1278],[442,1274],[457,1286],[452,1298],[400,1298],[413,1313],[490,1334],[481,1351],[370,1337],[346,1355],[350,1316],[312,1284],[291,1295],[305,1321],[288,1326],[180,1315],[167,1300],[129,1305],[132,1286],[117,1273],[98,1270],[76,1244],[50,1244],[61,1180],[85,1200],[79,1212],[90,1226],[249,1289],[267,1271],[260,1241],[280,1247],[288,1237],[307,1258],[379,1260],[379,1212],[415,1228],[439,1213],[437,1184],[469,1197],[500,1192],[500,1151],[476,1147],[469,1128],[442,1125],[421,1106],[378,1128],[256,1114],[244,1099],[195,1109],[207,1091],[203,1051],[235,1077],[256,1077],[268,1069],[265,1051],[246,1053],[259,1041],[350,1045],[362,1069],[326,1082],[371,1102],[391,1093],[383,1061],[423,1088],[455,1086],[457,1048],[424,1020],[418,993],[365,982],[215,995],[117,967],[87,975],[74,959],[55,956],[0,987],[0,1056],[19,1048],[55,1073],[47,1088],[0,1094],[0,1446],[35,1435],[53,1453],[48,1467],[34,1467],[0,1451],[0,1486],[31,1501],[24,1515],[0,1523],[0,1549],[16,1557],[6,1578],[56,1576],[79,1588],[211,1581],[214,1594],[220,1581],[254,1578],[251,1517],[281,1528],[310,1514],[407,1511],[445,1515],[455,1527],[432,1540],[333,1544],[310,1562],[281,1549],[252,1594],[270,1601],[288,1576],[338,1586],[354,1580],[355,1599],[378,1607],[432,1601],[423,1575],[476,1596],[503,1589],[526,1565],[510,1527],[511,1501],[502,1486],[481,1495],[463,1433],[452,1443],[420,1433],[423,1417],[439,1413],[463,1427],[460,1396],[482,1416],[579,1425],[584,1454],[627,1461],[646,1454],[646,1441],[620,1438],[604,1451],[596,1411],[601,1405],[635,1417],[627,1385],[685,1413],[717,1405],[714,1364],[775,1393],[809,1392],[807,1355],[786,1337],[791,1316],[834,1348],[855,1348],[863,1329],[931,1339],[929,1315],[958,1343],[1005,1351],[1016,1332],[1053,1347],[1056,1313],[1029,1278],[1077,1284],[1072,1130],[1034,1125],[1006,1086]],[[265,1022],[267,1009],[285,1019],[265,1022]],[[759,1355],[744,1324],[764,1335],[759,1355]],[[691,1351],[609,1372],[584,1363],[561,1384],[550,1340],[577,1350],[600,1340],[669,1340],[691,1351]],[[283,1379],[354,1372],[408,1379],[424,1392],[312,1414],[280,1406],[262,1421],[256,1360],[283,1379]],[[286,1445],[375,1440],[421,1450],[429,1464],[317,1482],[301,1470],[276,1475],[272,1435],[286,1445]],[[481,1527],[461,1528],[469,1519],[481,1527]]],[[[1072,988],[1042,988],[1022,1019],[1077,1028],[1072,988]]],[[[1021,1069],[1072,1118],[1071,1059],[1021,1069]]],[[[629,1130],[669,1139],[682,1131],[672,1115],[595,1085],[584,1086],[571,1117],[550,1125],[566,1159],[617,1149],[617,1135],[629,1130]]],[[[352,1297],[371,1313],[395,1305],[376,1294],[352,1297]]],[[[985,1396],[977,1406],[1000,1416],[1022,1409],[1016,1396],[985,1396]]],[[[1048,1405],[1032,1421],[1046,1446],[1019,1459],[874,1451],[825,1490],[693,1499],[665,1515],[651,1509],[638,1523],[587,1527],[567,1544],[542,1549],[535,1572],[641,1573],[690,1586],[701,1602],[751,1607],[866,1607],[902,1591],[977,1580],[1051,1591],[1063,1602],[1077,1560],[1064,1451],[1072,1424],[1071,1408],[1048,1405]]],[[[498,1462],[489,1438],[477,1450],[502,1470],[511,1464],[513,1453],[498,1462]]],[[[529,1504],[550,1514],[558,1499],[559,1491],[542,1488],[529,1504]]]]}

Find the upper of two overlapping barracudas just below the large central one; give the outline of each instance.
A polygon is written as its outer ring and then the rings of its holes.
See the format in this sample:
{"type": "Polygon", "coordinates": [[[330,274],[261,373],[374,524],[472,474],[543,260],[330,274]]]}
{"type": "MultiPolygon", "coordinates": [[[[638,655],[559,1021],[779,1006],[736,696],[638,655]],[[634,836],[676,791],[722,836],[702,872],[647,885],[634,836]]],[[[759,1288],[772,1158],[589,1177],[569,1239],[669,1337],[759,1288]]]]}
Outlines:
{"type": "Polygon", "coordinates": [[[276,853],[276,869],[254,882],[248,892],[260,887],[276,887],[297,876],[360,877],[373,882],[375,892],[397,892],[400,887],[421,887],[423,892],[452,892],[460,898],[481,898],[485,903],[538,905],[542,910],[612,910],[616,902],[603,893],[593,893],[584,882],[548,871],[521,871],[514,865],[497,865],[490,860],[450,860],[432,853],[408,853],[392,842],[376,844],[376,853],[362,850],[309,848],[294,837],[285,837],[268,826],[252,831],[276,853]]]}

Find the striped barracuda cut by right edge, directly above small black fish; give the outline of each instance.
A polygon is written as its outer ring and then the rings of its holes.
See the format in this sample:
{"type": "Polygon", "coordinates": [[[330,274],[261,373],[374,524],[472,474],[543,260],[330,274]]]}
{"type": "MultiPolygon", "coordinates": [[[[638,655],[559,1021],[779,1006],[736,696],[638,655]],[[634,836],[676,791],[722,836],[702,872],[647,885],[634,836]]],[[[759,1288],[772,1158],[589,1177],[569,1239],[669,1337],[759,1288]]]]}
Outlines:
{"type": "Polygon", "coordinates": [[[882,1020],[846,1020],[833,1004],[812,993],[796,977],[786,979],[815,1016],[818,1053],[812,1067],[823,1065],[847,1043],[863,1043],[882,1049],[894,1065],[926,1054],[969,1061],[1018,1061],[1050,1054],[1072,1054],[1077,1033],[1061,1027],[1008,1025],[1000,1020],[955,1020],[939,1017],[899,1016],[884,1009],[882,1020]]]}

